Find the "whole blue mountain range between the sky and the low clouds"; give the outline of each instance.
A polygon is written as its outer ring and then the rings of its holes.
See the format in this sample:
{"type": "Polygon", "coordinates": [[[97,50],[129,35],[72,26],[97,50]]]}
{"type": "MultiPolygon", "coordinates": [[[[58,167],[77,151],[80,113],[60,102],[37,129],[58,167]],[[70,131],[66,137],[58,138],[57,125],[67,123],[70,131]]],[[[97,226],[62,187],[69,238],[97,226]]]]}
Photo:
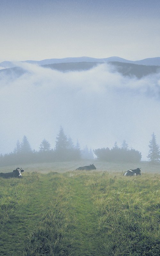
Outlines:
{"type": "Polygon", "coordinates": [[[105,59],[96,59],[89,57],[48,59],[48,60],[26,60],[20,62],[3,61],[0,67],[0,75],[10,77],[19,77],[28,72],[25,68],[20,67],[20,63],[36,64],[44,68],[51,68],[61,72],[89,70],[97,65],[108,63],[114,66],[112,72],[119,72],[123,76],[136,76],[140,79],[143,76],[160,72],[160,57],[148,58],[144,60],[130,61],[119,57],[109,57],[105,59]]]}

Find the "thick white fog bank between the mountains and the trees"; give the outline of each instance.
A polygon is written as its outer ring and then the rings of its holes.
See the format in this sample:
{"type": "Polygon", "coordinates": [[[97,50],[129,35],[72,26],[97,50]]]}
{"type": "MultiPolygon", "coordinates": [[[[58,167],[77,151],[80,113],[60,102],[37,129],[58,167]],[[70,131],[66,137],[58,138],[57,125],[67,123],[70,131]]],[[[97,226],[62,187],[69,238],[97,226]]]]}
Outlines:
{"type": "Polygon", "coordinates": [[[126,140],[146,159],[153,132],[160,144],[160,73],[138,80],[107,64],[66,73],[20,65],[22,76],[0,75],[0,153],[13,151],[24,135],[32,149],[44,138],[54,148],[60,125],[82,148],[126,140]]]}

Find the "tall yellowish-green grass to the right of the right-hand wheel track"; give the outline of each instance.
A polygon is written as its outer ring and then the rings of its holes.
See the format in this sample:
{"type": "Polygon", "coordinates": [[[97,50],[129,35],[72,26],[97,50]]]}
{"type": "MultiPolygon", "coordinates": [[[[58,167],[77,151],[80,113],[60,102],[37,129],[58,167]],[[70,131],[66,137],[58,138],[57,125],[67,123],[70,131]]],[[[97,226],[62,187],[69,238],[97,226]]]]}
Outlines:
{"type": "Polygon", "coordinates": [[[93,180],[87,184],[92,189],[93,208],[98,216],[99,255],[158,256],[157,177],[126,179],[107,173],[102,176],[107,177],[95,177],[95,184],[93,180]]]}

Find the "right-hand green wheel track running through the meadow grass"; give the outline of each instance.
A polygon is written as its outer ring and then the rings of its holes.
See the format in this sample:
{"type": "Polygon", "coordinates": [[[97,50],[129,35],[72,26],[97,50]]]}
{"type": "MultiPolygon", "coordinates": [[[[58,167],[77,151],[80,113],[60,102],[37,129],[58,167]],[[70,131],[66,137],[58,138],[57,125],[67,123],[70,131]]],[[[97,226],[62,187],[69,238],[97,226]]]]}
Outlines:
{"type": "Polygon", "coordinates": [[[72,179],[69,183],[73,195],[73,211],[76,217],[76,227],[73,232],[75,237],[73,244],[75,248],[74,255],[95,255],[97,217],[93,213],[90,192],[84,186],[82,180],[72,179]]]}

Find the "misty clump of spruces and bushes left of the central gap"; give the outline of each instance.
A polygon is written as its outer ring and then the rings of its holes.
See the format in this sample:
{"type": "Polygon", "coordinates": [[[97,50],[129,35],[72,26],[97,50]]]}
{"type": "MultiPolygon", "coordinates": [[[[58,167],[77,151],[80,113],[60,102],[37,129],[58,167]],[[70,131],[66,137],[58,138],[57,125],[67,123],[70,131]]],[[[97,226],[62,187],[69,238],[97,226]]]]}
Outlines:
{"type": "Polygon", "coordinates": [[[60,127],[59,134],[56,137],[55,148],[51,148],[51,144],[44,139],[39,146],[39,150],[32,150],[26,136],[22,142],[18,140],[13,152],[0,155],[0,166],[24,163],[44,163],[44,162],[61,162],[76,161],[80,159],[93,159],[92,149],[86,146],[80,148],[77,141],[73,144],[72,139],[64,133],[63,127],[60,127]]]}

